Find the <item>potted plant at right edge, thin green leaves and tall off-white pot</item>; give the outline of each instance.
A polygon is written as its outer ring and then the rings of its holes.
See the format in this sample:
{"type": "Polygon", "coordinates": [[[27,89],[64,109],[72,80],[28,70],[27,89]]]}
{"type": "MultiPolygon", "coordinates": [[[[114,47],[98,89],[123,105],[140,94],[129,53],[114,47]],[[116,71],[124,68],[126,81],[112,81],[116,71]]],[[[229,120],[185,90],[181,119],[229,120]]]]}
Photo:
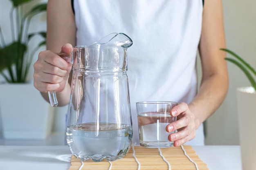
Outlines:
{"type": "Polygon", "coordinates": [[[225,60],[238,66],[252,85],[237,89],[237,109],[243,170],[253,170],[256,169],[256,71],[233,51],[221,50],[235,58],[227,57],[225,60]]]}

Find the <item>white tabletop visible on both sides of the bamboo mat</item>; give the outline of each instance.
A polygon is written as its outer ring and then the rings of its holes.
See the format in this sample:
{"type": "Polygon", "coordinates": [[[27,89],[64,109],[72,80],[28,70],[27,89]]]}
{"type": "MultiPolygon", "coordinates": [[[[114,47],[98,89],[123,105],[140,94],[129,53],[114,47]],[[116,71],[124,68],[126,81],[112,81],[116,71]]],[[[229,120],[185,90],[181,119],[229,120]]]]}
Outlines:
{"type": "MultiPolygon", "coordinates": [[[[242,170],[240,146],[193,146],[209,170],[242,170]]],[[[68,170],[68,146],[0,146],[0,170],[68,170]]]]}

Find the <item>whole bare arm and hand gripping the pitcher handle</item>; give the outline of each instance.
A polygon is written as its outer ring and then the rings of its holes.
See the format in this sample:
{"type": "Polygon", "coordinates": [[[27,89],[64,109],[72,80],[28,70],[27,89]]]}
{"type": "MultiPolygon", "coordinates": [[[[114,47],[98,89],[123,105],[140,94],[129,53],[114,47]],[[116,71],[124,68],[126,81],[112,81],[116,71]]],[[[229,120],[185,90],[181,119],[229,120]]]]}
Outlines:
{"type": "Polygon", "coordinates": [[[75,45],[76,25],[70,0],[49,0],[47,4],[47,51],[34,64],[34,86],[49,102],[47,91],[56,90],[59,106],[70,99],[71,66],[58,57],[70,53],[75,45]],[[66,44],[70,43],[70,44],[66,44]],[[66,44],[65,46],[63,46],[66,44]]]}

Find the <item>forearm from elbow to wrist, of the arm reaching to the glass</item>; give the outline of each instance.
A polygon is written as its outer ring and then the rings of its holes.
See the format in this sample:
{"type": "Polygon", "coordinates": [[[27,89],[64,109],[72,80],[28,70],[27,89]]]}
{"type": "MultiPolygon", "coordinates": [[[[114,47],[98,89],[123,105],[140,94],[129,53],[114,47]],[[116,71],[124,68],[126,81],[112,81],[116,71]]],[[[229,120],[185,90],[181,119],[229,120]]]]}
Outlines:
{"type": "Polygon", "coordinates": [[[195,116],[196,129],[221,105],[227,95],[228,84],[227,75],[220,73],[210,75],[202,81],[198,94],[189,104],[189,109],[195,116]]]}

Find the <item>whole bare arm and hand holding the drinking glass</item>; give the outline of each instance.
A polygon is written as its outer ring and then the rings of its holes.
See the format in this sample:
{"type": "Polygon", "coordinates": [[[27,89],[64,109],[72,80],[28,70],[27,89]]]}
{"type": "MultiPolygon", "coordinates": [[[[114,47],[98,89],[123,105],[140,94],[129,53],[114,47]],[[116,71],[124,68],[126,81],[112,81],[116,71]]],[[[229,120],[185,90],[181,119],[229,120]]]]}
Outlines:
{"type": "Polygon", "coordinates": [[[199,44],[202,63],[202,82],[193,101],[181,103],[172,109],[171,115],[178,121],[166,126],[171,132],[168,139],[174,146],[180,146],[193,139],[195,130],[210,117],[225,99],[228,90],[227,63],[224,60],[225,33],[223,26],[222,1],[205,0],[202,19],[202,34],[199,44]]]}

